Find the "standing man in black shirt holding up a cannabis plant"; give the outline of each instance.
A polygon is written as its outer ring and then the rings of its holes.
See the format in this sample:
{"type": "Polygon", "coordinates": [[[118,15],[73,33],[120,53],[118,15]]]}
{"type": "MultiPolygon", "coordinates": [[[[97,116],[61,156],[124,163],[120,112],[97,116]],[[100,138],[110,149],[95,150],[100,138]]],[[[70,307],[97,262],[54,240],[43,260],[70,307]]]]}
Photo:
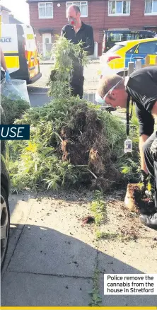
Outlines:
{"type": "MultiPolygon", "coordinates": [[[[67,16],[69,24],[62,28],[61,35],[64,35],[67,40],[71,40],[74,44],[83,42],[83,50],[86,50],[88,55],[92,55],[94,53],[93,28],[81,21],[79,6],[69,6],[67,16]]],[[[79,59],[75,58],[73,59],[73,69],[69,81],[73,96],[83,97],[83,81],[83,66],[79,59]]]]}

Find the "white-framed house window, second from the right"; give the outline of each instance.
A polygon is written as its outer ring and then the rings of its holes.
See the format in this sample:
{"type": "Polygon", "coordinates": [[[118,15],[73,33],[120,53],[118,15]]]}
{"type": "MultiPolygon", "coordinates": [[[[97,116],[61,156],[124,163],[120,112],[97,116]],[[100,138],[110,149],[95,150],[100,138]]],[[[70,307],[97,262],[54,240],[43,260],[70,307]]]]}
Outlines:
{"type": "Polygon", "coordinates": [[[109,0],[108,1],[108,15],[109,16],[126,16],[130,13],[130,1],[109,0]]]}

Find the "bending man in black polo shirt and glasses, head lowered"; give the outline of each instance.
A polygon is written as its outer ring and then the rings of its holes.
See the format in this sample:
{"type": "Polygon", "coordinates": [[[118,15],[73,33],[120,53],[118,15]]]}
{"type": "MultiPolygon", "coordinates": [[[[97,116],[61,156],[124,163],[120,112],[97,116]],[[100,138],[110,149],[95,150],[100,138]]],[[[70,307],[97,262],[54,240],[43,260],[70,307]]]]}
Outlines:
{"type": "Polygon", "coordinates": [[[157,229],[157,132],[153,132],[157,117],[157,66],[134,71],[127,81],[122,77],[105,76],[100,82],[96,100],[102,100],[113,108],[126,108],[132,98],[139,120],[139,151],[141,155],[141,180],[148,175],[154,183],[154,213],[141,214],[143,224],[157,229]]]}

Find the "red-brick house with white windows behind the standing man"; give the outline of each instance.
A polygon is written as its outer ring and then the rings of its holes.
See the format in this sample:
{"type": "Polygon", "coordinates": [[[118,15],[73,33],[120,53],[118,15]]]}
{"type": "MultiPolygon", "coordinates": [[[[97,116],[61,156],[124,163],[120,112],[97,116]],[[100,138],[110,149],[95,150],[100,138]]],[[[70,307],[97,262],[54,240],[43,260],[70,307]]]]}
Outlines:
{"type": "Polygon", "coordinates": [[[157,0],[27,0],[30,25],[33,25],[39,45],[52,44],[67,23],[66,8],[79,5],[81,19],[93,26],[98,54],[102,49],[103,30],[144,29],[157,33],[157,0]]]}

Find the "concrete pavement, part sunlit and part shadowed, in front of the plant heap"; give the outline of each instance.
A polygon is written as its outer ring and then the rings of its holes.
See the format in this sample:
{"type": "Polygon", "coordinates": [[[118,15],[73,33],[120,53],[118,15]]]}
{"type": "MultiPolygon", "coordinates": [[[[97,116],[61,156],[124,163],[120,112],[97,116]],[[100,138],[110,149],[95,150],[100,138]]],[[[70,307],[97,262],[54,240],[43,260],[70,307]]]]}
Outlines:
{"type": "MultiPolygon", "coordinates": [[[[156,273],[156,248],[150,256],[140,241],[98,241],[94,224],[82,225],[91,199],[88,190],[9,197],[11,237],[1,306],[88,306],[97,269],[103,306],[156,306],[157,296],[103,295],[104,272],[156,273]]],[[[147,234],[151,240],[153,231],[147,234]]]]}

